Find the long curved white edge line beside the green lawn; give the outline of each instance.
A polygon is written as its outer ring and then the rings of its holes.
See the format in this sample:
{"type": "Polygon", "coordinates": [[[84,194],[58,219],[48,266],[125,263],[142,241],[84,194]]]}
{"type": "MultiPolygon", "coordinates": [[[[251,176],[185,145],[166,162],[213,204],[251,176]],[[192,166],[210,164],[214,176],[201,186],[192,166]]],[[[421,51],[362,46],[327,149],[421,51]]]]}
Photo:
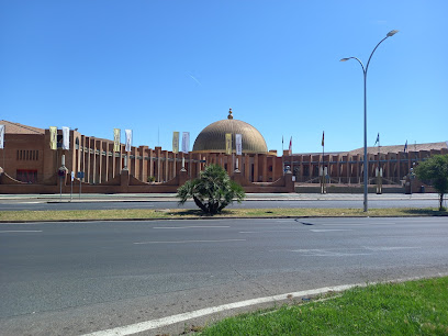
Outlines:
{"type": "MultiPolygon", "coordinates": [[[[370,283],[370,284],[373,284],[373,283],[370,283]]],[[[315,289],[315,290],[307,290],[307,291],[292,292],[292,293],[285,293],[285,294],[280,294],[280,295],[272,295],[272,296],[251,299],[251,300],[246,300],[246,301],[234,302],[234,303],[212,306],[212,307],[208,307],[208,309],[202,309],[202,310],[198,310],[198,311],[192,311],[192,312],[188,312],[188,313],[183,313],[183,314],[161,317],[161,318],[157,318],[157,320],[145,321],[145,322],[135,323],[135,324],[121,326],[121,327],[116,327],[116,328],[111,328],[111,329],[107,329],[107,331],[94,332],[94,333],[91,333],[91,334],[86,334],[83,336],[124,336],[124,335],[132,335],[132,334],[143,333],[143,332],[155,329],[155,328],[160,328],[160,327],[164,327],[164,326],[167,326],[167,325],[171,325],[171,324],[175,324],[175,323],[188,321],[188,320],[191,320],[191,318],[197,318],[197,317],[210,315],[210,314],[213,314],[213,313],[235,310],[235,309],[250,306],[250,305],[260,304],[260,303],[291,300],[292,298],[302,298],[302,296],[307,296],[307,295],[323,294],[323,293],[327,293],[327,292],[331,292],[331,291],[335,291],[335,292],[345,291],[345,290],[348,290],[348,289],[354,288],[354,287],[366,287],[366,285],[367,285],[366,283],[341,284],[341,285],[335,285],[335,287],[324,287],[324,288],[320,288],[320,289],[315,289]]]]}

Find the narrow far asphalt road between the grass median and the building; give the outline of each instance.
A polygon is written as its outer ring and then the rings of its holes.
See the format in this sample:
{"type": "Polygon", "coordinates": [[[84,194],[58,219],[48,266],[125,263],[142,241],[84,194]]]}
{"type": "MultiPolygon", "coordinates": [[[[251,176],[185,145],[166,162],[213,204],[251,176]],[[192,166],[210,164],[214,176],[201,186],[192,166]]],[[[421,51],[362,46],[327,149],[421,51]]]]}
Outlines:
{"type": "MultiPolygon", "coordinates": [[[[371,200],[369,208],[436,208],[437,200],[429,199],[385,199],[371,200]]],[[[177,201],[45,201],[45,200],[9,200],[0,202],[0,211],[59,211],[59,210],[108,210],[108,209],[198,209],[194,202],[179,205],[177,201]]],[[[249,200],[234,203],[229,209],[272,209],[272,208],[362,208],[362,200],[249,200]]]]}

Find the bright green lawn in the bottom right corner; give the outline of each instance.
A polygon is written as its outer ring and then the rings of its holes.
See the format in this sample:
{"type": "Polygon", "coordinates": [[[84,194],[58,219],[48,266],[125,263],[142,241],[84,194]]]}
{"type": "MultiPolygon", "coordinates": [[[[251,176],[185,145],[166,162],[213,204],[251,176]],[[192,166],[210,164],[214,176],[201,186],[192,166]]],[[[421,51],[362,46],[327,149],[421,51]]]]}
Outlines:
{"type": "Polygon", "coordinates": [[[448,335],[448,277],[355,288],[229,317],[201,335],[448,335]]]}

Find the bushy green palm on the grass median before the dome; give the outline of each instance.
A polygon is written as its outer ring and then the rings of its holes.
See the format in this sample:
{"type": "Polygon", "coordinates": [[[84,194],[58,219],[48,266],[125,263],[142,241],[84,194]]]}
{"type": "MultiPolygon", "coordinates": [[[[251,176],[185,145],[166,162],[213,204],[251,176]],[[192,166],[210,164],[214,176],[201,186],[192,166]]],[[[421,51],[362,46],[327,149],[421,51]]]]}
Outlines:
{"type": "Polygon", "coordinates": [[[179,204],[192,198],[204,213],[211,215],[220,213],[234,199],[240,203],[245,195],[243,187],[232,181],[227,171],[217,165],[206,166],[198,179],[187,181],[177,194],[179,204]]]}

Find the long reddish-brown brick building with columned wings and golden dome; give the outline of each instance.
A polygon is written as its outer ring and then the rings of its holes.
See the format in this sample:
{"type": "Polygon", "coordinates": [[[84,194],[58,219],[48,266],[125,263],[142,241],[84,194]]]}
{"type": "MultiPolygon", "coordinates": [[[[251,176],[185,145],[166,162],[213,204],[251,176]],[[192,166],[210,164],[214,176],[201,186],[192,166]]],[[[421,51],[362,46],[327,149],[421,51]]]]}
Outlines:
{"type": "MultiPolygon", "coordinates": [[[[205,165],[224,167],[247,192],[292,192],[295,184],[320,182],[320,171],[327,169],[327,181],[338,186],[362,183],[362,149],[328,154],[293,154],[268,150],[262,135],[250,124],[227,119],[206,126],[190,153],[173,153],[161,147],[120,144],[69,131],[69,148],[61,149],[63,133],[57,134],[57,149],[51,149],[49,130],[0,121],[5,125],[4,148],[0,149],[0,193],[65,192],[75,175],[75,190],[83,192],[176,192],[186,180],[199,177],[205,165]],[[232,148],[226,147],[226,134],[232,148]],[[235,135],[242,134],[242,154],[235,150],[235,135]],[[229,154],[232,153],[232,154],[229,154]],[[64,165],[63,165],[64,164],[64,165]],[[60,167],[66,176],[60,177],[60,167]],[[78,179],[78,173],[83,178],[78,179]],[[79,183],[79,187],[78,187],[79,183]]],[[[446,142],[368,148],[369,183],[377,168],[383,183],[401,186],[411,168],[435,154],[448,154],[446,142]]],[[[71,187],[71,186],[70,186],[71,187]]]]}

